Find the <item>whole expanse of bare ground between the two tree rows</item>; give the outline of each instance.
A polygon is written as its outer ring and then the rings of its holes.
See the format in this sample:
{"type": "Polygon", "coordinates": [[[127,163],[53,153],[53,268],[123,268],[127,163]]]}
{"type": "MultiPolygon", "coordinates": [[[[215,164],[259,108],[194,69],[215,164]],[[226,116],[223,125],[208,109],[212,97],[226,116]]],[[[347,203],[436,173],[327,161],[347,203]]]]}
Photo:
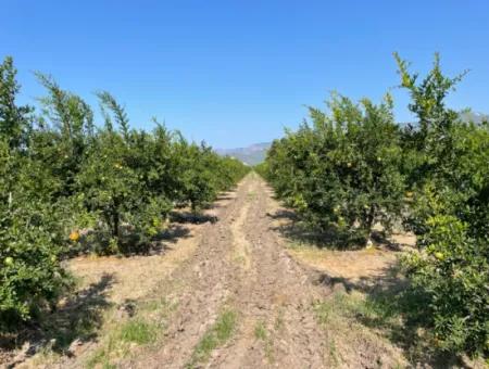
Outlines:
{"type": "Polygon", "coordinates": [[[337,304],[350,287],[388,283],[392,253],[290,247],[279,231],[283,211],[251,174],[208,211],[217,221],[174,225],[185,232],[179,229],[163,254],[72,260],[84,289],[111,280],[100,323],[86,341],[73,339],[55,355],[21,357],[20,367],[410,366],[402,348],[343,316],[337,304]],[[226,327],[223,316],[233,317],[226,327]],[[142,332],[148,340],[129,335],[127,344],[114,343],[131,321],[154,326],[142,332]]]}

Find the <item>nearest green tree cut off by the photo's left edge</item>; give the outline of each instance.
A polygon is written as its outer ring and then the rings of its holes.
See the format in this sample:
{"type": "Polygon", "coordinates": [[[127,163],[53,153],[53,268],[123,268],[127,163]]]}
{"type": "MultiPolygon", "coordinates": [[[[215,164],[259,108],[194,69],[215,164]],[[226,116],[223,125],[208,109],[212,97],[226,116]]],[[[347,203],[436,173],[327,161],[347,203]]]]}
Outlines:
{"type": "Polygon", "coordinates": [[[66,285],[60,266],[59,209],[46,202],[52,184],[41,163],[26,153],[30,130],[17,107],[18,86],[12,60],[0,65],[0,330],[14,329],[20,320],[49,306],[66,285]]]}

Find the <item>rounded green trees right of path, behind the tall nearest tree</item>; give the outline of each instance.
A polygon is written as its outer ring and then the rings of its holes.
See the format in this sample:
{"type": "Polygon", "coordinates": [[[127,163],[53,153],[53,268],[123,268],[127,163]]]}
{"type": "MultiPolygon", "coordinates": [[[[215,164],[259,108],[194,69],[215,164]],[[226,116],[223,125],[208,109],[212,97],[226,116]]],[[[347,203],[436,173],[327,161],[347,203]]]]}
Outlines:
{"type": "Polygon", "coordinates": [[[365,242],[402,208],[399,129],[389,97],[374,105],[335,94],[328,105],[329,114],[310,109],[311,124],[275,141],[262,168],[311,225],[365,242]]]}

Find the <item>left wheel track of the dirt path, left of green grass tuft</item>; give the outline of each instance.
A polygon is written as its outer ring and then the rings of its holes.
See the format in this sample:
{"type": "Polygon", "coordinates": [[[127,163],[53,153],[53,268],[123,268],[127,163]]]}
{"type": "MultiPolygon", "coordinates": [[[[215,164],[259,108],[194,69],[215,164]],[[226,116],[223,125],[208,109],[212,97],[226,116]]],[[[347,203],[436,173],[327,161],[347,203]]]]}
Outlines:
{"type": "Polygon", "coordinates": [[[163,347],[124,367],[184,368],[189,362],[195,346],[234,293],[237,276],[230,262],[230,226],[243,208],[251,183],[249,177],[241,182],[236,199],[223,209],[218,221],[205,225],[196,255],[171,276],[166,296],[177,301],[178,308],[165,332],[163,347]]]}

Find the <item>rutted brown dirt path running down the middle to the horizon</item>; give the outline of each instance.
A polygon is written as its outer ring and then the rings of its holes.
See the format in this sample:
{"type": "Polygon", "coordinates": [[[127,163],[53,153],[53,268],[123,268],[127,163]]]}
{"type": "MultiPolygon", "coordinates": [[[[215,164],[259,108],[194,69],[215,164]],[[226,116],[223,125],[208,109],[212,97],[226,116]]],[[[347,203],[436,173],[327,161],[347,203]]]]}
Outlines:
{"type": "Polygon", "coordinates": [[[171,276],[167,296],[178,308],[163,346],[127,367],[188,367],[224,309],[236,313],[236,329],[204,367],[324,367],[324,331],[312,310],[318,295],[271,229],[276,206],[260,177],[242,181],[218,221],[204,226],[193,257],[171,276]]]}

